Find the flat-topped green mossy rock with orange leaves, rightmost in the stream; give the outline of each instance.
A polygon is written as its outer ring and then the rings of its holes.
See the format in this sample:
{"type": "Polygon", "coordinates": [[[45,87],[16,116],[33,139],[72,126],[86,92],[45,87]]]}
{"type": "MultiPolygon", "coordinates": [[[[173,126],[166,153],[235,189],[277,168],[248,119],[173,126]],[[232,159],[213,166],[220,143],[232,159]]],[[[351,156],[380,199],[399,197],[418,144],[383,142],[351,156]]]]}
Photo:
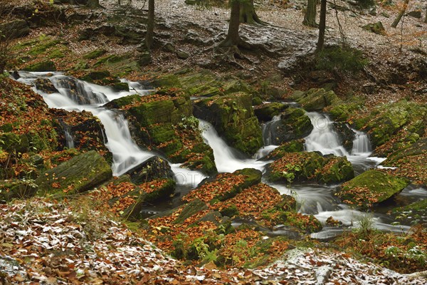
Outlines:
{"type": "Polygon", "coordinates": [[[394,177],[379,170],[368,170],[341,185],[335,195],[343,202],[369,207],[393,197],[408,185],[409,180],[406,178],[394,177]]]}

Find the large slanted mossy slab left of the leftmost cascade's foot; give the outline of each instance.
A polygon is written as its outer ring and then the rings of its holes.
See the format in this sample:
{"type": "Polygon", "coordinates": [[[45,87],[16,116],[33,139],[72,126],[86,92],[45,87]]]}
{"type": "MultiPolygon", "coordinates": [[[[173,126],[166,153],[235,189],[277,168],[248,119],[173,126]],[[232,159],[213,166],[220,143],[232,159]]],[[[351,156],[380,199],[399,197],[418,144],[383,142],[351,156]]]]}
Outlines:
{"type": "Polygon", "coordinates": [[[41,195],[71,195],[101,185],[112,177],[110,165],[95,150],[73,157],[36,179],[41,195]]]}

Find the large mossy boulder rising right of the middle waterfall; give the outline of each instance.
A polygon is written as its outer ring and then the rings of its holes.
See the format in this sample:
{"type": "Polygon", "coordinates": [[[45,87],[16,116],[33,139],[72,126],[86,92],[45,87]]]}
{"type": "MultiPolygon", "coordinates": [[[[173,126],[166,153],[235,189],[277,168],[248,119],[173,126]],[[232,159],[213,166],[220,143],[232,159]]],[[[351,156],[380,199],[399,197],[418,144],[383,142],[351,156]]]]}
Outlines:
{"type": "Polygon", "coordinates": [[[253,155],[263,146],[263,135],[253,113],[252,98],[247,93],[196,101],[194,115],[214,125],[218,135],[247,155],[253,155]]]}

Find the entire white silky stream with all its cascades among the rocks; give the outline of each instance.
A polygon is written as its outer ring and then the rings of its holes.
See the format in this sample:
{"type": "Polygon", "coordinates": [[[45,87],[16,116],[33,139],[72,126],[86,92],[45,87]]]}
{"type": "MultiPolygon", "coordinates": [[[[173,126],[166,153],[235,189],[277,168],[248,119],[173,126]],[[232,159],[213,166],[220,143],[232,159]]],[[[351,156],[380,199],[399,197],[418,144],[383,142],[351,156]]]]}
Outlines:
{"type": "MultiPolygon", "coordinates": [[[[100,119],[105,128],[105,136],[107,143],[105,144],[113,155],[112,172],[115,176],[120,176],[147,160],[149,157],[158,155],[157,153],[148,150],[142,150],[138,147],[130,134],[129,126],[124,115],[117,110],[107,110],[102,105],[116,98],[121,98],[127,95],[138,93],[139,95],[147,95],[150,90],[146,90],[140,83],[122,80],[130,86],[130,91],[117,92],[110,87],[98,86],[93,83],[80,81],[69,76],[64,76],[63,73],[29,73],[21,71],[19,82],[34,86],[34,81],[37,78],[48,78],[58,89],[58,93],[47,94],[33,87],[36,93],[43,96],[50,108],[61,108],[64,110],[87,110],[93,113],[100,119]],[[73,84],[70,84],[73,83],[73,84]]],[[[305,138],[305,150],[321,152],[322,155],[338,155],[347,156],[347,159],[352,162],[355,174],[358,175],[371,168],[379,167],[379,163],[384,161],[381,157],[371,157],[371,145],[369,137],[366,133],[353,130],[355,139],[353,148],[347,151],[339,140],[338,133],[334,130],[334,122],[322,113],[307,113],[314,126],[310,135],[305,138]]],[[[278,147],[271,145],[268,128],[271,128],[275,120],[280,120],[279,116],[273,118],[272,121],[262,125],[264,147],[253,155],[253,157],[245,157],[237,150],[226,144],[226,142],[218,136],[214,127],[200,120],[199,128],[205,142],[214,150],[214,157],[218,172],[233,172],[243,168],[255,168],[265,171],[265,166],[272,161],[260,160],[271,151],[278,147]]],[[[65,130],[65,138],[68,147],[73,147],[72,135],[69,130],[65,130]]],[[[206,178],[201,172],[188,170],[180,167],[179,164],[171,164],[172,170],[177,182],[177,192],[181,195],[186,194],[192,188],[206,178]]],[[[275,187],[281,194],[292,195],[297,200],[297,207],[302,214],[313,214],[322,222],[324,228],[321,232],[312,234],[312,237],[317,239],[327,239],[342,232],[344,227],[357,227],[362,217],[369,215],[374,222],[374,227],[392,232],[406,232],[410,227],[408,225],[394,225],[395,221],[389,217],[386,212],[391,207],[396,205],[379,205],[374,209],[374,212],[361,212],[351,209],[346,204],[340,204],[334,197],[334,191],[339,185],[317,185],[312,183],[294,183],[292,185],[271,183],[263,179],[263,182],[275,187]],[[344,227],[327,227],[326,219],[333,217],[342,222],[344,227]]],[[[409,185],[399,195],[397,201],[402,201],[401,204],[408,204],[423,198],[425,190],[409,185]]],[[[176,207],[180,202],[180,197],[175,197],[172,203],[165,203],[153,206],[146,209],[147,212],[160,212],[171,207],[176,207]]],[[[274,229],[273,234],[287,234],[285,227],[278,226],[274,229]]]]}

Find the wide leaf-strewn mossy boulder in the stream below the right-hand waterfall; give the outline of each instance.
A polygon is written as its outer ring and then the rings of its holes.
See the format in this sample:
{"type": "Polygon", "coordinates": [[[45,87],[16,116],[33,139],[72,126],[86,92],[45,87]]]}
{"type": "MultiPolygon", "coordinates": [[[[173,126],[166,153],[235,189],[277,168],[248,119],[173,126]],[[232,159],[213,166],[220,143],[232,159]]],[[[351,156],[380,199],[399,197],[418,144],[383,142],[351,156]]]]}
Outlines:
{"type": "Polygon", "coordinates": [[[267,167],[271,181],[314,181],[333,184],[354,177],[352,164],[347,157],[323,157],[317,152],[285,152],[279,160],[267,167]]]}

